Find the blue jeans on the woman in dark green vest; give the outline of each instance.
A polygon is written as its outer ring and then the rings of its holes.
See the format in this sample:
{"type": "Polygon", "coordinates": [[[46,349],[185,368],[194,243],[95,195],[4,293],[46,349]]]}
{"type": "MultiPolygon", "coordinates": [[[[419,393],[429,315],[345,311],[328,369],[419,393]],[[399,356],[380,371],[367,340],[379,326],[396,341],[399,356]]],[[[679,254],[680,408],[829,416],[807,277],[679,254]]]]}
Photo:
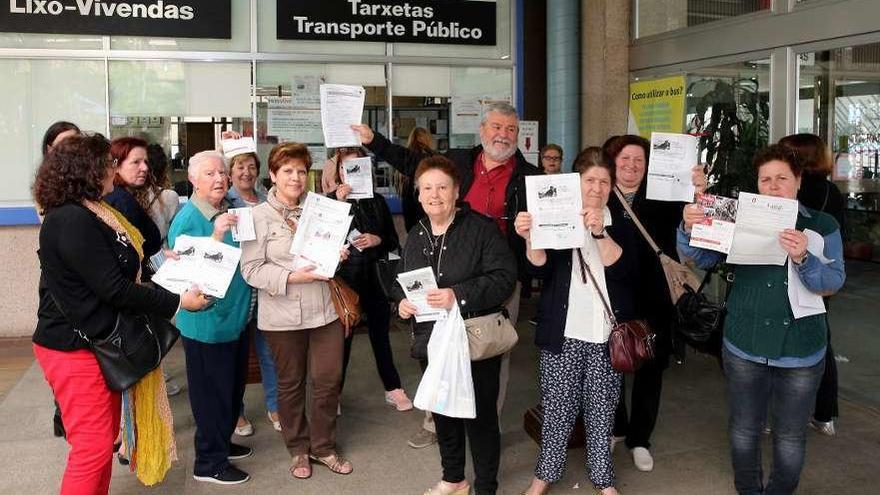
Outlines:
{"type": "Polygon", "coordinates": [[[748,361],[723,350],[730,410],[730,455],[734,485],[741,495],[790,494],[804,466],[807,421],[825,363],[778,368],[748,361]],[[761,432],[771,411],[773,471],[767,486],[761,469],[761,432]]]}

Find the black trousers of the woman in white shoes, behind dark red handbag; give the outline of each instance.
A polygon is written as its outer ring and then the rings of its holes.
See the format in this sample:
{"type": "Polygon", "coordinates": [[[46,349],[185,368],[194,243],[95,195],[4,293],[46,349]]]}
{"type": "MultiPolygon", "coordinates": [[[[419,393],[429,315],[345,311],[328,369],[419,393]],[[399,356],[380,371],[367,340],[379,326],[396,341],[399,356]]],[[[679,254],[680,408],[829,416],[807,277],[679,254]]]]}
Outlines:
{"type": "Polygon", "coordinates": [[[658,356],[645,364],[631,377],[631,411],[626,410],[626,380],[620,381],[620,400],[614,417],[614,436],[626,437],[626,446],[649,448],[651,434],[660,412],[660,395],[663,391],[663,370],[668,360],[658,356]]]}

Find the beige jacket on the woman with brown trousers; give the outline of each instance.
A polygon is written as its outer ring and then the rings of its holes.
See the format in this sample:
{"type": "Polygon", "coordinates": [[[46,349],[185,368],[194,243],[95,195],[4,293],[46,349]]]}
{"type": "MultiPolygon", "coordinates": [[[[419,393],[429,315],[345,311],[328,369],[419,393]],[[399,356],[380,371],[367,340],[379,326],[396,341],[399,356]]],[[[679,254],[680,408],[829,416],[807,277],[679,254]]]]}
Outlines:
{"type": "Polygon", "coordinates": [[[282,220],[293,211],[270,190],[265,203],[254,207],[257,238],[241,243],[241,274],[257,293],[257,327],[265,331],[318,328],[337,320],[327,282],[289,284],[293,271],[293,232],[282,220]],[[278,208],[281,213],[276,210],[278,208]]]}

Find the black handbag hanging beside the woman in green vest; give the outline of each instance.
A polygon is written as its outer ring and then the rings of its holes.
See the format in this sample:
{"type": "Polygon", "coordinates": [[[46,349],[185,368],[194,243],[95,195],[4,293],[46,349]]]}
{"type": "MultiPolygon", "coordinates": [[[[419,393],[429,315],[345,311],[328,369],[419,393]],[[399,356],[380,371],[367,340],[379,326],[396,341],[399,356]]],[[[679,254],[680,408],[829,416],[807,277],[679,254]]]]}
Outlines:
{"type": "Polygon", "coordinates": [[[714,269],[706,272],[699,288],[685,285],[685,292],[675,303],[675,331],[690,344],[704,344],[721,333],[727,314],[727,295],[720,303],[710,301],[703,289],[714,269]]]}

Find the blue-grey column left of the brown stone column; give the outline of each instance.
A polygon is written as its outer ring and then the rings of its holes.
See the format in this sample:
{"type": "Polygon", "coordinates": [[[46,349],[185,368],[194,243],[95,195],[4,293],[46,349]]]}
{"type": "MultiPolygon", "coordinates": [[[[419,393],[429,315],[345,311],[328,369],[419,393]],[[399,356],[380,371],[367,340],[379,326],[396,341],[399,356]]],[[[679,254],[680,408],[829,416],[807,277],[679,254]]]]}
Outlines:
{"type": "Polygon", "coordinates": [[[547,142],[562,146],[565,170],[580,151],[579,9],[578,0],[547,2],[547,142]]]}

